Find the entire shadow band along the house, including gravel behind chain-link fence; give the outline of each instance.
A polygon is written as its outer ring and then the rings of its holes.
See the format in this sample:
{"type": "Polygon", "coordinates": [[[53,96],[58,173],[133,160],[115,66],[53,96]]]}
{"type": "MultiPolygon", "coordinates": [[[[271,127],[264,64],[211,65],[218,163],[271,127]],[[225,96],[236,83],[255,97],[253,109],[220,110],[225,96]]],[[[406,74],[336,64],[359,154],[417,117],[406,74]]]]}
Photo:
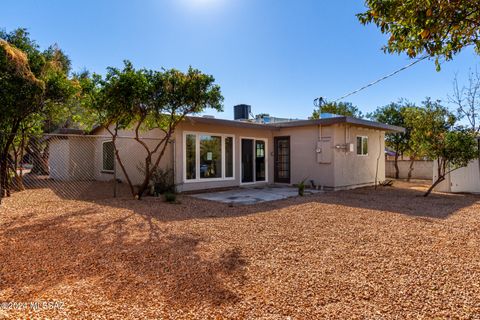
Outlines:
{"type": "MultiPolygon", "coordinates": [[[[179,204],[166,204],[161,198],[145,197],[142,201],[131,199],[125,184],[119,185],[119,197],[112,198],[111,183],[102,182],[37,182],[37,190],[51,190],[60,199],[80,200],[102,206],[132,210],[145,219],[177,221],[248,215],[271,211],[291,205],[316,202],[344,207],[393,212],[411,216],[444,219],[458,210],[480,202],[480,195],[433,193],[423,197],[428,187],[422,183],[395,182],[393,187],[359,188],[347,191],[295,197],[255,205],[228,205],[209,200],[180,195],[179,204]]],[[[41,196],[39,196],[39,201],[41,196]]]]}

